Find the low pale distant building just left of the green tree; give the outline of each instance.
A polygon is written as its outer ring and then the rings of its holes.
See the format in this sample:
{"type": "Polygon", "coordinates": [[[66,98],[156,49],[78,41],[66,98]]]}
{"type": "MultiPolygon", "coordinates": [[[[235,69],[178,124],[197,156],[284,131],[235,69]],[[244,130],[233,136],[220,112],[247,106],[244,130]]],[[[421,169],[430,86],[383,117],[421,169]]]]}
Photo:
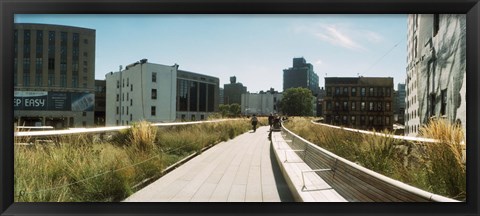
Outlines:
{"type": "Polygon", "coordinates": [[[242,94],[241,110],[245,115],[269,115],[279,112],[282,94],[276,92],[242,94]]]}

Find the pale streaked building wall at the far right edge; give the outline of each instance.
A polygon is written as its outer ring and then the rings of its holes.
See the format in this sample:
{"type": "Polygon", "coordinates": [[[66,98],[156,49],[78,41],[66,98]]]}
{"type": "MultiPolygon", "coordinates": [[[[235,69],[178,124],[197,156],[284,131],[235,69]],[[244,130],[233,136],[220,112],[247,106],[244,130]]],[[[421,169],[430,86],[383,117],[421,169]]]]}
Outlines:
{"type": "Polygon", "coordinates": [[[418,73],[418,85],[425,85],[418,89],[420,123],[435,116],[465,125],[465,93],[461,91],[466,73],[465,15],[441,14],[435,19],[438,27],[434,22],[433,31],[421,35],[426,43],[418,73]]]}

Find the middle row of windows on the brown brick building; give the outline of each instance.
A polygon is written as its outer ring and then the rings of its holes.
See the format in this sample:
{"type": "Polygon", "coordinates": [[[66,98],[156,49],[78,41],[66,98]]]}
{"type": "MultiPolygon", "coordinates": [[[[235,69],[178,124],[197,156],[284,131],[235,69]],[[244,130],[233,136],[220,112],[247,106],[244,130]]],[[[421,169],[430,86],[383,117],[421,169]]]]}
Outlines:
{"type": "Polygon", "coordinates": [[[327,111],[391,111],[390,102],[348,102],[348,101],[327,101],[327,111]],[[333,107],[332,107],[333,105],[333,107]],[[357,106],[359,106],[357,108],[357,106]]]}

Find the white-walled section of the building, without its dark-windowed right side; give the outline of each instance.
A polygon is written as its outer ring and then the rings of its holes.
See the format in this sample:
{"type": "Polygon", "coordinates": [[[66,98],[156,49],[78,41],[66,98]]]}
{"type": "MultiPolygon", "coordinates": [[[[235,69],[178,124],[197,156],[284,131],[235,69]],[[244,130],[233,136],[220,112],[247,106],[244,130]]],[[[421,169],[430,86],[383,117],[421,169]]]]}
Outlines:
{"type": "Polygon", "coordinates": [[[107,74],[106,126],[175,121],[177,69],[143,59],[107,74]]]}

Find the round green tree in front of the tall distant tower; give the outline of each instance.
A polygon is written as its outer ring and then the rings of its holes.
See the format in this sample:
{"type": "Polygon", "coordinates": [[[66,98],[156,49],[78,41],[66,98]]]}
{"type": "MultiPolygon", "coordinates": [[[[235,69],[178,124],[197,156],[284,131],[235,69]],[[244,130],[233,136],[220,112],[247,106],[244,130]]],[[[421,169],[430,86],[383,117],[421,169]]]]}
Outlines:
{"type": "Polygon", "coordinates": [[[306,88],[290,88],[283,92],[280,107],[282,112],[290,116],[313,115],[313,95],[306,88]]]}

